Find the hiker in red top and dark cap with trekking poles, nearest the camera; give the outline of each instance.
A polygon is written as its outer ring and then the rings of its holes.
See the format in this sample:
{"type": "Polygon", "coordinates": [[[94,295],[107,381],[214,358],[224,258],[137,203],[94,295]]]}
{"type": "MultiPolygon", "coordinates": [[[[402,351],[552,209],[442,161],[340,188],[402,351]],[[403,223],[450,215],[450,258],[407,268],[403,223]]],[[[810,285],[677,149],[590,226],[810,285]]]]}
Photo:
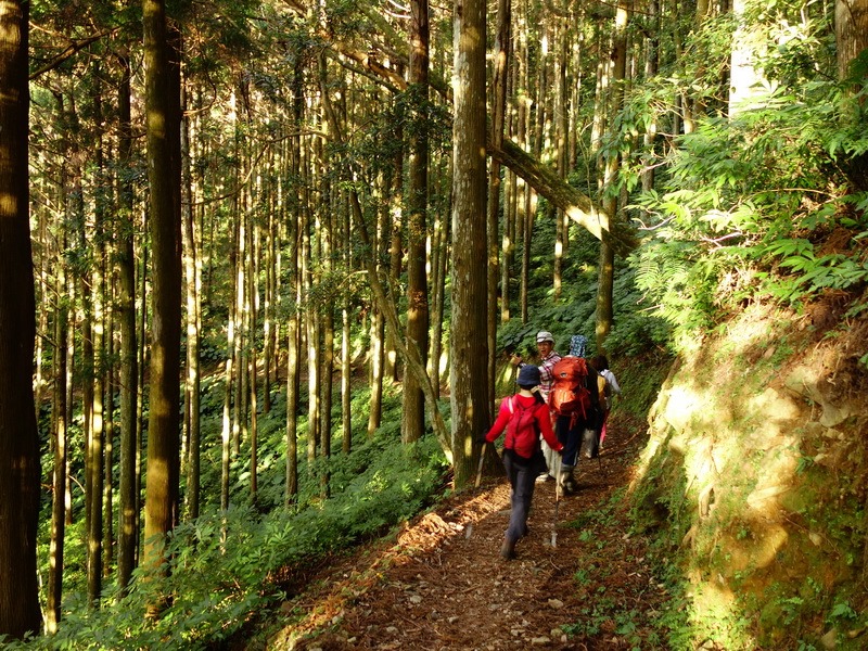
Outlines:
{"type": "Polygon", "coordinates": [[[527,535],[527,512],[539,472],[545,469],[539,435],[560,452],[563,445],[551,430],[549,408],[539,395],[539,369],[527,365],[519,371],[519,393],[503,398],[495,424],[483,443],[494,443],[506,430],[503,468],[512,486],[512,509],[500,556],[515,558],[515,544],[527,535]]]}

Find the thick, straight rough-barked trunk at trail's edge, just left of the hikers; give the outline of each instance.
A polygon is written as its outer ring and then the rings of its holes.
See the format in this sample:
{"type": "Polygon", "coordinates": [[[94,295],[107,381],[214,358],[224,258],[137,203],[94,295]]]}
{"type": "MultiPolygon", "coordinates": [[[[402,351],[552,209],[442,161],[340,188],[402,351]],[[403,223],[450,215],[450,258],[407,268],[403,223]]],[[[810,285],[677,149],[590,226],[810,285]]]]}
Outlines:
{"type": "MultiPolygon", "coordinates": [[[[451,445],[455,486],[474,475],[473,439],[489,425],[485,166],[484,0],[456,0],[454,10],[451,445]]],[[[477,455],[475,455],[477,456],[477,455]]]]}

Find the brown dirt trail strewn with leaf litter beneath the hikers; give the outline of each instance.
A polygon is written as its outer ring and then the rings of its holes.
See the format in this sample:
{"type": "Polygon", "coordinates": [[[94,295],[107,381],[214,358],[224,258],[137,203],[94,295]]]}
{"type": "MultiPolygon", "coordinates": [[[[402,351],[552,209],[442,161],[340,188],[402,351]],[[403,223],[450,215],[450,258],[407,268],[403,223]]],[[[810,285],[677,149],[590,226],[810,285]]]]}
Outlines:
{"type": "Polygon", "coordinates": [[[492,478],[417,518],[397,541],[332,559],[308,576],[304,592],[283,604],[293,624],[268,648],[665,648],[651,622],[666,595],[643,561],[644,539],[627,535],[627,505],[615,498],[629,483],[644,423],[613,416],[600,461],[580,461],[579,490],[561,499],[554,529],[554,482],[536,485],[516,559],[499,556],[510,492],[506,478],[492,478]]]}

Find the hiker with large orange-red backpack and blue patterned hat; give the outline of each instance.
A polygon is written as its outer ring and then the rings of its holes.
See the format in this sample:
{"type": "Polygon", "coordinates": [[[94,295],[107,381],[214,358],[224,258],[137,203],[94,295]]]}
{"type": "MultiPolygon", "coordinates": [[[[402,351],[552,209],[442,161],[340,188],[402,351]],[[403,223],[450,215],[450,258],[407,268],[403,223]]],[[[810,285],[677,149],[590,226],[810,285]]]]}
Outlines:
{"type": "Polygon", "coordinates": [[[596,457],[596,426],[600,410],[597,371],[585,360],[587,339],[580,334],[570,341],[570,355],[552,369],[553,382],[549,393],[549,407],[554,417],[554,433],[563,444],[558,486],[565,493],[575,493],[573,474],[583,443],[596,457]],[[591,435],[586,436],[590,430],[591,435]],[[586,441],[587,439],[587,441],[586,441]]]}

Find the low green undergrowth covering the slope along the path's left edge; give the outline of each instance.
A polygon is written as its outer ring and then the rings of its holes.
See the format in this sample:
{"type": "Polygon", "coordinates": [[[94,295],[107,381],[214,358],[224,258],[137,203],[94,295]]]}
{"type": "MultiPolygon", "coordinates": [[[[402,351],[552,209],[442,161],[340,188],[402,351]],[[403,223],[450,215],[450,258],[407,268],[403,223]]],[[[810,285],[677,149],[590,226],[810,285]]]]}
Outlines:
{"type": "MultiPolygon", "coordinates": [[[[334,498],[297,512],[260,515],[252,506],[208,510],[177,526],[167,542],[168,576],[138,571],[131,593],[90,610],[80,592],[67,599],[60,633],[40,638],[51,649],[205,649],[231,637],[283,598],[293,569],[359,540],[383,535],[438,495],[447,468],[434,437],[403,446],[380,437],[360,445],[365,469],[334,498]],[[159,595],[171,595],[161,617],[143,616],[159,595]]],[[[110,588],[106,601],[115,597],[110,588]]]]}

